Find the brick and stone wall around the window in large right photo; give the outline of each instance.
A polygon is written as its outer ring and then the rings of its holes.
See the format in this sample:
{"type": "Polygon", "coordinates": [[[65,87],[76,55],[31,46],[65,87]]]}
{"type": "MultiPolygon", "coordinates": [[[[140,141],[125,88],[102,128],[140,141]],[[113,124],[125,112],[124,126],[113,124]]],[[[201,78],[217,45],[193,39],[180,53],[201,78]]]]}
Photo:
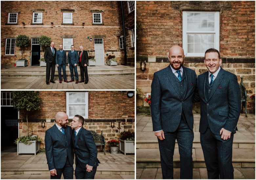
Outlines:
{"type": "MultiPolygon", "coordinates": [[[[250,111],[249,96],[255,93],[255,1],[137,1],[136,23],[141,26],[136,32],[136,87],[142,91],[137,106],[151,92],[153,74],[169,65],[169,48],[182,47],[184,10],[220,11],[221,66],[236,74],[239,83],[240,77],[244,77],[250,111]],[[141,61],[146,62],[144,73],[140,70],[141,61]]],[[[203,59],[185,57],[184,66],[202,74],[207,71],[203,59]]]]}

